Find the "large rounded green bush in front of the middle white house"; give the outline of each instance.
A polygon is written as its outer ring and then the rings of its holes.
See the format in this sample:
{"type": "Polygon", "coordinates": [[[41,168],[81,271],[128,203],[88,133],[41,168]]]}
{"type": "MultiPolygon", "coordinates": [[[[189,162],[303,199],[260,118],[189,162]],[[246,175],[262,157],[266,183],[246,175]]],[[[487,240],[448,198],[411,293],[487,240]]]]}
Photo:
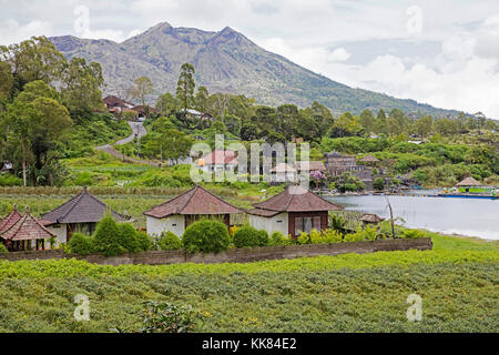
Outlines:
{"type": "Polygon", "coordinates": [[[231,243],[227,226],[218,221],[197,221],[184,232],[184,247],[190,253],[218,253],[225,251],[231,243]]]}

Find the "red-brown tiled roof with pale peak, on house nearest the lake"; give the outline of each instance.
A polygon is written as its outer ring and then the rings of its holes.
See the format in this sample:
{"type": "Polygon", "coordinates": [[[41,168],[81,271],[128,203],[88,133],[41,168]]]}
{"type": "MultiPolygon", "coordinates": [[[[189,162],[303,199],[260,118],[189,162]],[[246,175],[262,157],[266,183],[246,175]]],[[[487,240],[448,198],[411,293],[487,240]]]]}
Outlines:
{"type": "MultiPolygon", "coordinates": [[[[342,206],[333,204],[329,201],[317,196],[315,193],[301,185],[287,186],[286,190],[284,190],[282,193],[272,196],[264,202],[255,204],[254,207],[257,210],[268,210],[274,212],[313,212],[343,210],[342,206]]],[[[262,215],[262,213],[259,214],[262,215]]]]}

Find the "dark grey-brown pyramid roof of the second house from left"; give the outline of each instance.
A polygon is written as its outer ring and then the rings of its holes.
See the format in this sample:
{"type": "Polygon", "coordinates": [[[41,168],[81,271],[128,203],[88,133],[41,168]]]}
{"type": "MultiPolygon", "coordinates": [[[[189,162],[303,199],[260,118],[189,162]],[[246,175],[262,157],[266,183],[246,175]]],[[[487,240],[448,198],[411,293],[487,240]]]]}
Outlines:
{"type": "MultiPolygon", "coordinates": [[[[41,216],[43,224],[45,221],[52,223],[90,223],[102,220],[108,211],[108,206],[95,196],[91,195],[86,187],[83,192],[68,202],[63,203],[55,210],[41,216]]],[[[126,219],[118,212],[111,211],[112,216],[116,221],[125,221],[126,219]]]]}

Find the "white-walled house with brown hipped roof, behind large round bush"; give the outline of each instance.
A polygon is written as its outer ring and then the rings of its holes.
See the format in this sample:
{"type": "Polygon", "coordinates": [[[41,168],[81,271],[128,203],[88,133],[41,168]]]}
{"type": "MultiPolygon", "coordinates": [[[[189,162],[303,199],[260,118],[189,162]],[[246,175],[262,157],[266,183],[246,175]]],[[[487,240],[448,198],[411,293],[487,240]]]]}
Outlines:
{"type": "Polygon", "coordinates": [[[227,229],[231,214],[243,213],[210,191],[196,185],[183,194],[145,211],[146,230],[150,235],[173,232],[182,236],[185,229],[202,217],[222,220],[227,229]]]}

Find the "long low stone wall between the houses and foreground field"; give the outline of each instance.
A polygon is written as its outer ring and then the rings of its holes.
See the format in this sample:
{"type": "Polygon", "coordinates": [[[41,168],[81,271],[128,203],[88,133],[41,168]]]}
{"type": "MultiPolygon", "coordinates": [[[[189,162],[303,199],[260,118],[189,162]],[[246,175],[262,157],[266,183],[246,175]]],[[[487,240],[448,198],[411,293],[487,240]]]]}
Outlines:
{"type": "Polygon", "coordinates": [[[285,246],[262,246],[253,248],[233,248],[222,253],[187,254],[184,251],[152,251],[118,256],[91,254],[86,256],[64,254],[61,250],[43,252],[14,252],[0,254],[0,260],[48,260],[48,258],[78,258],[89,263],[103,265],[147,264],[166,265],[179,263],[248,263],[263,260],[295,258],[318,255],[339,255],[347,253],[374,253],[381,251],[431,250],[431,239],[415,240],[385,240],[374,242],[353,242],[335,244],[307,244],[285,246]]]}

